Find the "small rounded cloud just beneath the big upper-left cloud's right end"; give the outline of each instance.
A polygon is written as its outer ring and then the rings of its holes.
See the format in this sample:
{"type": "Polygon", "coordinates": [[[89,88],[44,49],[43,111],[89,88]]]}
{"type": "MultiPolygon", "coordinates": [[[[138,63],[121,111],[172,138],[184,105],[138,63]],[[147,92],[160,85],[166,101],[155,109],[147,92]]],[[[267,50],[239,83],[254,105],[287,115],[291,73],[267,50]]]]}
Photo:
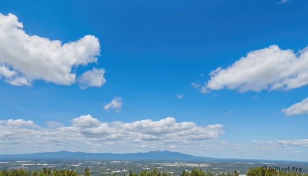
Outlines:
{"type": "Polygon", "coordinates": [[[104,77],[105,70],[93,68],[93,70],[88,70],[84,72],[78,80],[79,87],[81,89],[86,89],[88,87],[101,87],[106,83],[104,77]]]}

